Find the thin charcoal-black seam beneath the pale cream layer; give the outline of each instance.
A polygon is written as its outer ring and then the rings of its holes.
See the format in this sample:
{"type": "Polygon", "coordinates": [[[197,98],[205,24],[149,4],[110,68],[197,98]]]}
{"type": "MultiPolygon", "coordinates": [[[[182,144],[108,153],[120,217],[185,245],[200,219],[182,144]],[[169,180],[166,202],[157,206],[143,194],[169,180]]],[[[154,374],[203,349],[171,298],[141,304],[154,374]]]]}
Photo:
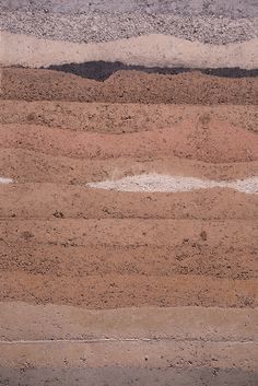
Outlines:
{"type": "Polygon", "coordinates": [[[47,67],[49,70],[62,71],[73,73],[79,77],[94,79],[96,81],[105,81],[117,71],[141,71],[145,73],[176,75],[185,72],[200,71],[207,75],[222,77],[222,78],[254,78],[258,77],[258,69],[246,70],[238,67],[235,68],[184,68],[184,67],[144,67],[124,65],[120,61],[87,61],[84,63],[66,63],[51,65],[47,67]]]}

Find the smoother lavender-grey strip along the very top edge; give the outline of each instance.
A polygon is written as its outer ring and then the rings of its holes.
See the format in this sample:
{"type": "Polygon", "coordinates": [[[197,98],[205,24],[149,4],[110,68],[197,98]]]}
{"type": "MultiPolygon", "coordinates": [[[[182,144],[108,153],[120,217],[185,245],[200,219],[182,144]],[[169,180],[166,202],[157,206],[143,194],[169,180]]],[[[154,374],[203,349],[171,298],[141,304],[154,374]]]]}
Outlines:
{"type": "Polygon", "coordinates": [[[87,13],[89,11],[175,13],[179,15],[212,15],[230,17],[258,17],[254,0],[3,0],[0,10],[42,11],[46,14],[61,12],[64,14],[87,13]]]}

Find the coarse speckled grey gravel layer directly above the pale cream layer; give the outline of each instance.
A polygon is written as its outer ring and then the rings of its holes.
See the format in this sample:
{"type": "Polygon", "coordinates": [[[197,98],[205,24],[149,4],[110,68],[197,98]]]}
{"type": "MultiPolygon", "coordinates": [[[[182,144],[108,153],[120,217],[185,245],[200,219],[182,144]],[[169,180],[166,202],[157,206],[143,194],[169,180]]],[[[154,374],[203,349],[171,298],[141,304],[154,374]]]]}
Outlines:
{"type": "Polygon", "coordinates": [[[258,19],[231,19],[173,13],[2,11],[0,28],[54,40],[99,43],[149,34],[191,42],[227,44],[258,37],[258,19]]]}

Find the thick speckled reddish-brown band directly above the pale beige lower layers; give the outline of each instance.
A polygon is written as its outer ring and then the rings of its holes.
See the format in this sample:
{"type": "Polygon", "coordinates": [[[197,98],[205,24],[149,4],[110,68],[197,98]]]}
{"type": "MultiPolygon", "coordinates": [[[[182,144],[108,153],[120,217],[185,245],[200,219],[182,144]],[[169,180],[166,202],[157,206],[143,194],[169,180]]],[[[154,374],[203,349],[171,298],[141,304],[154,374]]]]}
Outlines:
{"type": "Polygon", "coordinates": [[[1,221],[1,300],[91,308],[258,304],[254,221],[12,220],[1,221]]]}

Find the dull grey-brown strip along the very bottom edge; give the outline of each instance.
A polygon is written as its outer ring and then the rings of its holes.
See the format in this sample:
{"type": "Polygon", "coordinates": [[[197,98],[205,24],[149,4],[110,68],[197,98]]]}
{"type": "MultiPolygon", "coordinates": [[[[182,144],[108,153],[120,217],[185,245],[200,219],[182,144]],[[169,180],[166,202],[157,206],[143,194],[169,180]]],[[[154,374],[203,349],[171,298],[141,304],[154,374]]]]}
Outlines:
{"type": "Polygon", "coordinates": [[[162,370],[120,366],[30,369],[24,365],[21,370],[0,367],[0,382],[7,386],[45,386],[46,383],[49,386],[85,386],[85,379],[89,385],[98,386],[167,386],[171,382],[177,386],[256,386],[258,375],[257,372],[235,367],[223,370],[208,366],[162,370]]]}

